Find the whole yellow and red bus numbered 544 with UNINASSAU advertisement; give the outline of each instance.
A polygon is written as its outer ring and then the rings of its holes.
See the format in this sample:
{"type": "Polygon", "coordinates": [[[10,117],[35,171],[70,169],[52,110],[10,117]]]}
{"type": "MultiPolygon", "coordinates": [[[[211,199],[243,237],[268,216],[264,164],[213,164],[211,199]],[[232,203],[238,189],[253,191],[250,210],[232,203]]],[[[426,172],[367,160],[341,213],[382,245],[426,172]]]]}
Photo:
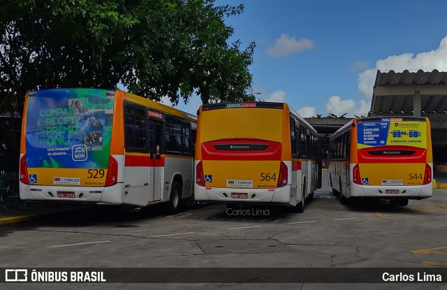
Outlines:
{"type": "Polygon", "coordinates": [[[369,117],[348,122],[330,137],[330,186],[344,204],[351,197],[432,196],[430,121],[426,117],[369,117]]]}

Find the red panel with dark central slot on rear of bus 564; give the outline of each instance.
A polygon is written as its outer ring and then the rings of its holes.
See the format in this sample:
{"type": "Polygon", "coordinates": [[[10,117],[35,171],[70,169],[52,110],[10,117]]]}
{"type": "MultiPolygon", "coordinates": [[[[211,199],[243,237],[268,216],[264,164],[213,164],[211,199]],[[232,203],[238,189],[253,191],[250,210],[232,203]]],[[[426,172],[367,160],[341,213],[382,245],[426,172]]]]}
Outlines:
{"type": "Polygon", "coordinates": [[[221,139],[202,143],[202,160],[280,161],[282,144],[261,139],[221,139]],[[268,145],[264,150],[218,150],[214,145],[268,145]]]}

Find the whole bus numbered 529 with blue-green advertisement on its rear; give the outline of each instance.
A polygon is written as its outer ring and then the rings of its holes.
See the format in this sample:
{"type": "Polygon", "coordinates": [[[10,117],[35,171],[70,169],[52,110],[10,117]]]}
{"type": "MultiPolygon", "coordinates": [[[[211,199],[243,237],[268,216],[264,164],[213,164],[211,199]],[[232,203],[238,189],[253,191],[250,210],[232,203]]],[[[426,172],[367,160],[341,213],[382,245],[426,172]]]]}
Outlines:
{"type": "Polygon", "coordinates": [[[192,195],[197,118],[106,89],[27,93],[20,145],[20,198],[176,212],[192,195]]]}

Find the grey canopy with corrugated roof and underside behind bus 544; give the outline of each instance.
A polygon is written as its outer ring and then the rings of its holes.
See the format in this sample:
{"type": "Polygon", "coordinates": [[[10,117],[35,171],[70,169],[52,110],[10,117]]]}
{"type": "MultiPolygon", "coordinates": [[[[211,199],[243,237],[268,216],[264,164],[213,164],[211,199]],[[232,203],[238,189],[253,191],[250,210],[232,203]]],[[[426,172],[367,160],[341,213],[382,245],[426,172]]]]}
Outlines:
{"type": "Polygon", "coordinates": [[[423,113],[447,113],[447,72],[377,71],[371,113],[412,113],[419,91],[423,113]]]}

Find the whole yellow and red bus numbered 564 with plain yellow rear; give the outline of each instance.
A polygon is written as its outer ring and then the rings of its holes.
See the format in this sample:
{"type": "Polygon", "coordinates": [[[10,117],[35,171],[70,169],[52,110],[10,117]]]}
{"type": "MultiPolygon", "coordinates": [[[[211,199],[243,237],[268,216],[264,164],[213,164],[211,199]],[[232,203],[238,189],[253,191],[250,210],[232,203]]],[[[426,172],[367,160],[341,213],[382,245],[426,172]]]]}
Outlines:
{"type": "Polygon", "coordinates": [[[318,187],[317,133],[286,103],[200,106],[196,201],[288,205],[302,212],[318,187]]]}

